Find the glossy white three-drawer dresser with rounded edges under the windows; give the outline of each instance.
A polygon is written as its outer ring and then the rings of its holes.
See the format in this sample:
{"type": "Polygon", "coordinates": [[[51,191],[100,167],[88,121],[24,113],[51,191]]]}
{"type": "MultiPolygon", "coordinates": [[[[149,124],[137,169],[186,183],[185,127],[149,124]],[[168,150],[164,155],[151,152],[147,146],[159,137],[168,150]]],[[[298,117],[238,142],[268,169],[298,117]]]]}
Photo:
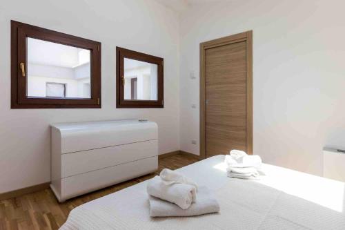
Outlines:
{"type": "Polygon", "coordinates": [[[59,202],[158,168],[155,122],[52,124],[50,187],[59,202]]]}

